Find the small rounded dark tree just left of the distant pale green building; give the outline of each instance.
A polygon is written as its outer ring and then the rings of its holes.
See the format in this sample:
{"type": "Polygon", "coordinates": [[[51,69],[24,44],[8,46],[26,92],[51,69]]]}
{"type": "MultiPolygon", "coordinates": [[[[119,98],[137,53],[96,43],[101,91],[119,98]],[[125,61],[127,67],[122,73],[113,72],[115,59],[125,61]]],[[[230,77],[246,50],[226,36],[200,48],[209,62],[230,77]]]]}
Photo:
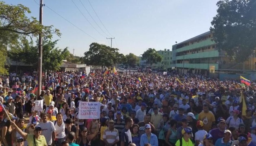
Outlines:
{"type": "Polygon", "coordinates": [[[162,61],[162,56],[156,52],[155,49],[149,48],[146,52],[142,54],[142,60],[147,60],[147,63],[150,65],[156,64],[157,62],[162,61]]]}

